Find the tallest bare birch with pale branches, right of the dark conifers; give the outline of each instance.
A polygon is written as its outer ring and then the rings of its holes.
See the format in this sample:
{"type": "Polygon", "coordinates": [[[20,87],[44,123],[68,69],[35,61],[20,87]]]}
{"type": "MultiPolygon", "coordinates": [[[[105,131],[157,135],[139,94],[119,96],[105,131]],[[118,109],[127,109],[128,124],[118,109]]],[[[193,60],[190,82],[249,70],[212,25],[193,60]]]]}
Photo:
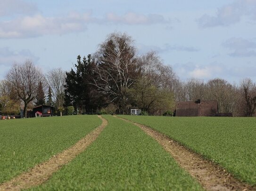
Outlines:
{"type": "Polygon", "coordinates": [[[126,110],[127,90],[138,77],[135,54],[133,40],[125,33],[110,34],[95,54],[96,75],[92,84],[109,97],[121,113],[126,110]]]}

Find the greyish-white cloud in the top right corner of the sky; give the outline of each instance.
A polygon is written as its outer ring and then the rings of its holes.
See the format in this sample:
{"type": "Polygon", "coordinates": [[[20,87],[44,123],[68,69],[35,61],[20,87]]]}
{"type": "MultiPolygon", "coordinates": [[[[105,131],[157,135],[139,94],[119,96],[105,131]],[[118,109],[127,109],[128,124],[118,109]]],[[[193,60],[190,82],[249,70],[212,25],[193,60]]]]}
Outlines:
{"type": "Polygon", "coordinates": [[[228,26],[238,23],[243,16],[256,20],[256,0],[236,0],[219,8],[215,16],[201,16],[198,24],[201,27],[228,26]]]}

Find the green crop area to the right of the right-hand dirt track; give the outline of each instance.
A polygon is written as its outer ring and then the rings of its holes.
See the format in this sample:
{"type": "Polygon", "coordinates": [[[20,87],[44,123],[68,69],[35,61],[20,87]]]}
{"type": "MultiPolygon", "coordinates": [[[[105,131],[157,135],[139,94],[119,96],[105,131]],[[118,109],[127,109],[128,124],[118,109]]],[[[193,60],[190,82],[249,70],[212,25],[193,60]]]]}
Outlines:
{"type": "Polygon", "coordinates": [[[256,118],[120,115],[157,130],[256,185],[256,118]]]}

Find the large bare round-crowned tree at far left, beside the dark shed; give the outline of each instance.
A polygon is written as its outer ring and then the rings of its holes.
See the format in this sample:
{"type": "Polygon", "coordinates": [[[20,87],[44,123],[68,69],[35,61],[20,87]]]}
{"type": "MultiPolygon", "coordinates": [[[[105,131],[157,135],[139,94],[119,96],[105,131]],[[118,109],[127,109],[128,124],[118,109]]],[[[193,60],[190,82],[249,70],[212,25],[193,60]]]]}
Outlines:
{"type": "Polygon", "coordinates": [[[29,60],[22,65],[15,63],[8,71],[6,80],[24,102],[24,117],[26,118],[27,106],[37,95],[38,83],[44,80],[41,69],[29,60]]]}

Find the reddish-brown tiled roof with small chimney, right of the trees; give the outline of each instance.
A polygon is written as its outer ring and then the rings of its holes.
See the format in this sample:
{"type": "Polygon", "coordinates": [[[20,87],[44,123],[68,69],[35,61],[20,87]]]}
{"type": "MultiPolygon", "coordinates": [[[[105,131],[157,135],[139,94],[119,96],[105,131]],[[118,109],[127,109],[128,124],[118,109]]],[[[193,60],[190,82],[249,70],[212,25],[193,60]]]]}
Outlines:
{"type": "Polygon", "coordinates": [[[216,116],[217,101],[181,101],[176,102],[176,116],[216,116]]]}

